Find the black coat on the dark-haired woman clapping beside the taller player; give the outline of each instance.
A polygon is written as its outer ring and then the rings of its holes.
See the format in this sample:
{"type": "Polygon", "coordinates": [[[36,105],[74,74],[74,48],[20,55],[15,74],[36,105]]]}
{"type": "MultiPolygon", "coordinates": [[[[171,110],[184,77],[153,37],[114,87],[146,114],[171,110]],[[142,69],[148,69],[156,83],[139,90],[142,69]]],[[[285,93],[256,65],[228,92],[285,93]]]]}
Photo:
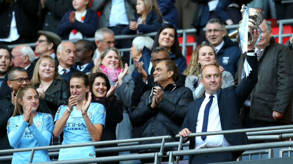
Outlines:
{"type": "MultiPolygon", "coordinates": [[[[117,123],[120,123],[123,120],[122,102],[119,100],[115,100],[114,96],[105,97],[100,100],[96,100],[92,98],[92,102],[97,102],[99,104],[102,104],[105,106],[105,109],[106,109],[105,128],[103,129],[100,141],[116,140],[117,123]]],[[[96,146],[96,148],[113,147],[113,146],[117,146],[117,144],[99,145],[99,146],[96,146]]],[[[118,156],[118,152],[96,154],[96,156],[97,157],[118,156]]],[[[119,163],[119,162],[116,162],[116,163],[119,163]]]]}

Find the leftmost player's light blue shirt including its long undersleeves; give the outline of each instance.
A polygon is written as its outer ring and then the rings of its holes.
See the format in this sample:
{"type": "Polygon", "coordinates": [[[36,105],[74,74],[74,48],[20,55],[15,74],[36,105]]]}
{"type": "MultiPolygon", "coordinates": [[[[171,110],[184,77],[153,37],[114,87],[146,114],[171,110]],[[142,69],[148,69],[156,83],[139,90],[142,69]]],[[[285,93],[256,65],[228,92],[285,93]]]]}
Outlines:
{"type": "MultiPolygon", "coordinates": [[[[7,135],[14,149],[49,146],[53,134],[53,118],[50,114],[37,112],[33,125],[23,120],[24,116],[10,117],[7,123],[7,135]],[[43,139],[47,139],[47,143],[43,139]]],[[[30,151],[13,153],[12,164],[28,163],[30,151]]],[[[35,151],[33,163],[50,161],[48,150],[35,151]]]]}

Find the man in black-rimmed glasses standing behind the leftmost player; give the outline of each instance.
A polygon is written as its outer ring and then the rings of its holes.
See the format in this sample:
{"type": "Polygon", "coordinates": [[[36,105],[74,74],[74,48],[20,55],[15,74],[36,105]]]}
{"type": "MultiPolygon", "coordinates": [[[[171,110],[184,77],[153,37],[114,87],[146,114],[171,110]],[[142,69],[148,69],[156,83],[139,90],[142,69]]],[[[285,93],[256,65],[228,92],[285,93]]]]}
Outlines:
{"type": "MultiPolygon", "coordinates": [[[[0,130],[2,132],[6,131],[7,121],[14,112],[14,106],[16,102],[16,93],[18,92],[20,88],[30,85],[30,78],[28,78],[28,74],[26,73],[24,68],[13,67],[12,69],[8,71],[7,77],[8,77],[7,84],[12,90],[10,91],[10,93],[7,93],[7,95],[2,100],[0,100],[0,104],[1,104],[0,130]]],[[[42,113],[49,113],[50,110],[47,104],[40,100],[40,108],[37,111],[40,111],[42,113]]],[[[0,133],[0,150],[2,149],[13,149],[9,145],[9,141],[8,141],[6,133],[0,133]]],[[[1,154],[1,155],[6,156],[8,154],[1,154]]],[[[8,163],[11,163],[11,160],[7,161],[7,164],[8,163]]],[[[6,162],[3,162],[3,164],[6,164],[6,162]]]]}

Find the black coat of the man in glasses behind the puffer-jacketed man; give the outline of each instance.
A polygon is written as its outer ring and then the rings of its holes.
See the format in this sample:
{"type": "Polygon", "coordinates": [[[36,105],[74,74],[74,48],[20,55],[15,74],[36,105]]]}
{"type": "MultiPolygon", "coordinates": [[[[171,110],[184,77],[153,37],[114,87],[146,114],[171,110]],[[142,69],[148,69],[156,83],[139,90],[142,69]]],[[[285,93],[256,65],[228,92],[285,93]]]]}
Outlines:
{"type": "MultiPolygon", "coordinates": [[[[183,74],[178,74],[177,80],[180,79],[183,84],[185,84],[186,76],[183,74]]],[[[140,98],[142,95],[147,91],[153,88],[154,83],[154,75],[147,76],[147,84],[142,80],[142,76],[137,76],[134,82],[134,91],[131,96],[131,102],[134,107],[137,107],[138,103],[140,102],[140,98]]]]}

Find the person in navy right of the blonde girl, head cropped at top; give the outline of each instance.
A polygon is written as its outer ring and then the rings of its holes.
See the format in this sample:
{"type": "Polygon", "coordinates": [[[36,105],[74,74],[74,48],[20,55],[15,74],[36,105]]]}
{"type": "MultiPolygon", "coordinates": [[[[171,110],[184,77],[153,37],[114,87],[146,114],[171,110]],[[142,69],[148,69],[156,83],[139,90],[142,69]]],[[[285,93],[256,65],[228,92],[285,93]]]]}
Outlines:
{"type": "Polygon", "coordinates": [[[164,17],[164,23],[171,24],[178,29],[178,10],[175,0],[157,0],[157,2],[164,17]]]}

